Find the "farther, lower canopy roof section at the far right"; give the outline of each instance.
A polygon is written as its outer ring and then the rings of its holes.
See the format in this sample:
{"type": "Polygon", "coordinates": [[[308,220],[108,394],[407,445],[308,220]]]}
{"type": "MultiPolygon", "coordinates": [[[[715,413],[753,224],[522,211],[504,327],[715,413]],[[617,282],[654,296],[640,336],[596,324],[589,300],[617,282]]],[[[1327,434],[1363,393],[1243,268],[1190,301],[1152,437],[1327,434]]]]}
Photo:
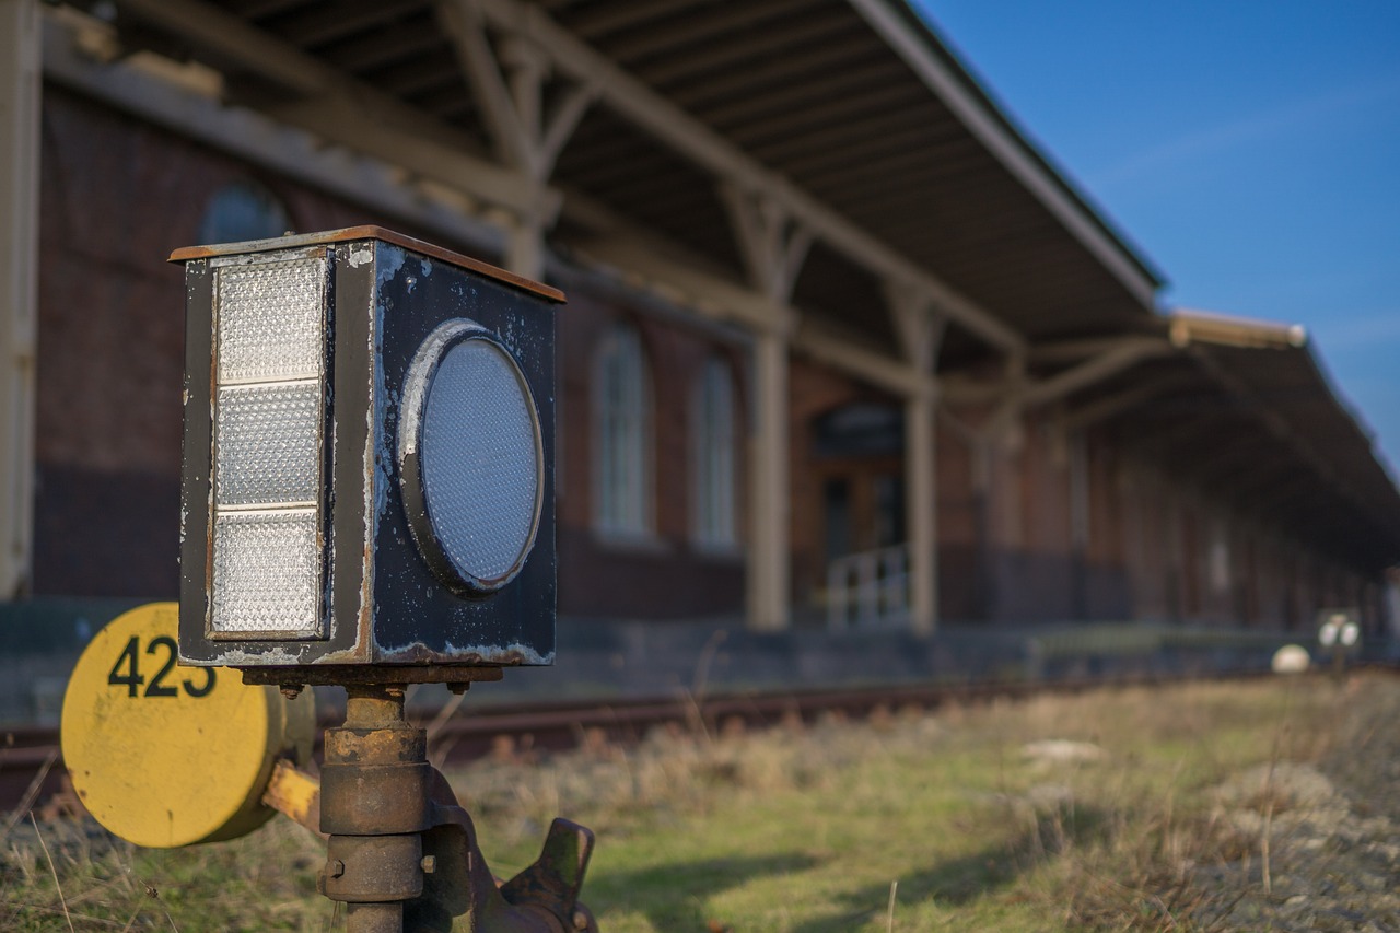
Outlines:
{"type": "Polygon", "coordinates": [[[1228,503],[1380,572],[1400,563],[1400,493],[1302,328],[1176,311],[1175,350],[1071,399],[1128,451],[1228,503]]]}

